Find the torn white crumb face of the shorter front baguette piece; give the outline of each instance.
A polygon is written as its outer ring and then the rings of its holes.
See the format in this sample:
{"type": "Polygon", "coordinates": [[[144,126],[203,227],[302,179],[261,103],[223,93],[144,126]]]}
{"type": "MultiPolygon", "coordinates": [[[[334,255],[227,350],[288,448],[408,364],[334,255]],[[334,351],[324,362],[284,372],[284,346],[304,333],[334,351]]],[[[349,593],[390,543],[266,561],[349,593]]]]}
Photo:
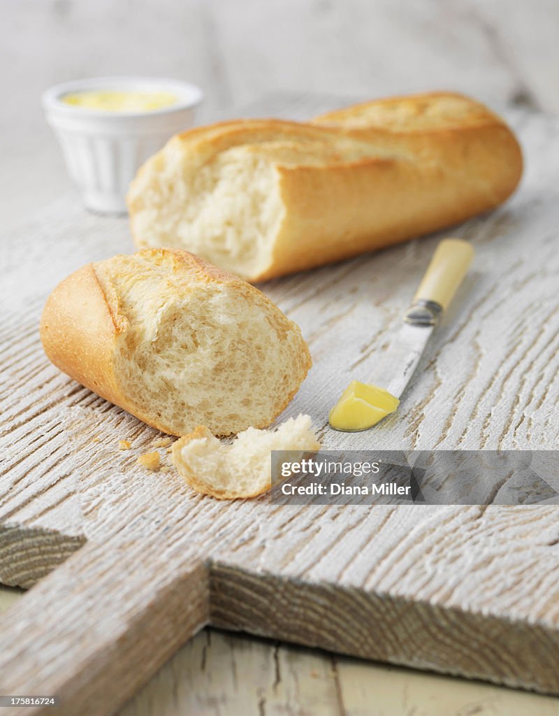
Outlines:
{"type": "Polygon", "coordinates": [[[167,432],[266,427],[298,389],[308,367],[301,332],[248,284],[195,280],[165,251],[116,256],[96,272],[125,318],[122,390],[167,432]]]}

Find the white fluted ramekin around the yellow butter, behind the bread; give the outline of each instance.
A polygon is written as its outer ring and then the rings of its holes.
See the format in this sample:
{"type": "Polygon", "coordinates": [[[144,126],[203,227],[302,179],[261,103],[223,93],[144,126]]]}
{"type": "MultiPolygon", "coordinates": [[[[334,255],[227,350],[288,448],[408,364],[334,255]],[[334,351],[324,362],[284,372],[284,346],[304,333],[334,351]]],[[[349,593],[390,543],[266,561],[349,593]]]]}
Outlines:
{"type": "Polygon", "coordinates": [[[42,103],[64,153],[69,175],[87,208],[126,211],[128,185],[137,169],[172,135],[192,127],[202,92],[194,84],[151,77],[100,77],[57,84],[42,103]],[[178,102],[151,112],[104,112],[62,102],[69,92],[172,92],[178,102]]]}

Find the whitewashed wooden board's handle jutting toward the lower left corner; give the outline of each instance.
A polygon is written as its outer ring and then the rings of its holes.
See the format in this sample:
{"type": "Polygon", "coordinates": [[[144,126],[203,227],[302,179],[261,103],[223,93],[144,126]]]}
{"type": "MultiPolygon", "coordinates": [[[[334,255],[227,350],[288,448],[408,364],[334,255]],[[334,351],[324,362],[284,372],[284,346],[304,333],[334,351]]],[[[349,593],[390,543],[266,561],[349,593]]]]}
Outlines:
{"type": "Polygon", "coordinates": [[[132,696],[208,619],[203,563],[184,566],[183,549],[161,569],[157,547],[88,543],[0,617],[2,693],[55,694],[64,716],[114,712],[132,696]]]}

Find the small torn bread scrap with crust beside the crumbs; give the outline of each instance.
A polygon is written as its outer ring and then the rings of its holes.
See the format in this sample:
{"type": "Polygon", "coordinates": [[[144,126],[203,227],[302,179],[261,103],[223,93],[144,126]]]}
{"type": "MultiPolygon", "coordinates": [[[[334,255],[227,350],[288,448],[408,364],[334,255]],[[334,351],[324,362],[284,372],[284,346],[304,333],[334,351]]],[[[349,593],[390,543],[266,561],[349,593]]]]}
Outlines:
{"type": "Polygon", "coordinates": [[[271,451],[320,450],[311,418],[299,415],[276,430],[249,427],[232,445],[200,425],[172,446],[172,461],[191,488],[219,500],[256,497],[272,486],[271,451]]]}

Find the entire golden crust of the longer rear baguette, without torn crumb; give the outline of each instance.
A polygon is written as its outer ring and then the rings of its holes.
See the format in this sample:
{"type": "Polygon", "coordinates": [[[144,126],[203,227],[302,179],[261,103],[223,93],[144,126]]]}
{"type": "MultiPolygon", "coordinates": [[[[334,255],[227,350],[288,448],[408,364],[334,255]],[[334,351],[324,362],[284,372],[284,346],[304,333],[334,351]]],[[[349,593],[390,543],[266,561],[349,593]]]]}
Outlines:
{"type": "MultiPolygon", "coordinates": [[[[174,137],[162,152],[202,166],[240,145],[274,166],[285,208],[271,261],[248,276],[251,281],[452,226],[502,203],[522,175],[520,146],[505,122],[452,92],[364,102],[308,123],[221,122],[174,137]],[[274,155],[274,140],[293,142],[295,154],[300,147],[300,161],[291,155],[282,160],[281,151],[274,155]],[[318,147],[312,160],[307,140],[318,147]]],[[[148,160],[130,190],[138,245],[144,238],[135,216],[147,200],[145,182],[157,176],[158,156],[148,160]]]]}

